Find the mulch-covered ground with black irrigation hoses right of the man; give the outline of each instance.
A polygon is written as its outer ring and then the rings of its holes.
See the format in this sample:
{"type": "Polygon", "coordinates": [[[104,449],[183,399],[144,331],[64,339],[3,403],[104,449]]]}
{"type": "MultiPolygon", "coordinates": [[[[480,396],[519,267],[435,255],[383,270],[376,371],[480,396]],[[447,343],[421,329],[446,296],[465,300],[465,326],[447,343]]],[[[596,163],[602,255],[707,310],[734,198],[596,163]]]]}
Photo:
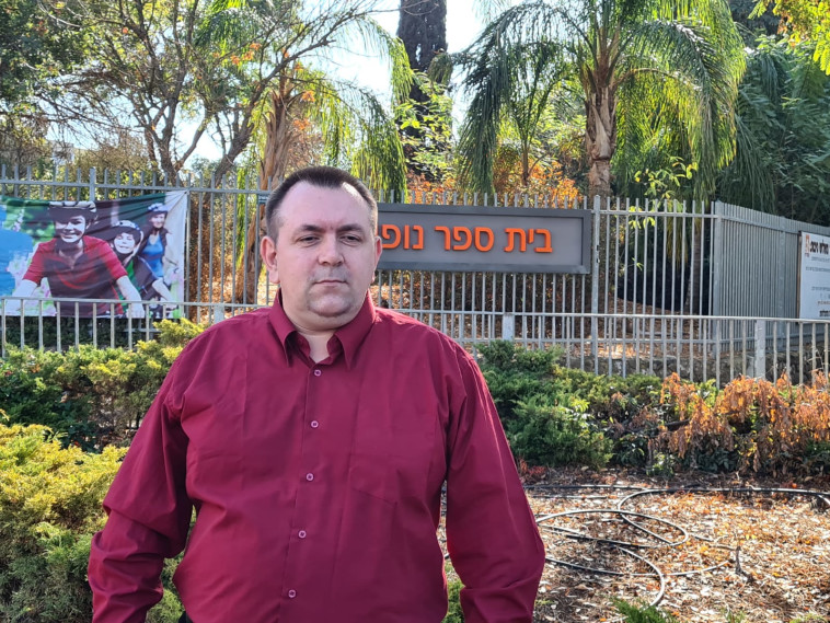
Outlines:
{"type": "Polygon", "coordinates": [[[622,621],[613,598],[658,602],[683,623],[830,621],[830,477],[666,480],[612,470],[532,476],[528,498],[549,561],[537,623],[622,621]],[[737,491],[750,488],[758,491],[737,491]],[[645,489],[656,493],[629,497],[645,489]]]}

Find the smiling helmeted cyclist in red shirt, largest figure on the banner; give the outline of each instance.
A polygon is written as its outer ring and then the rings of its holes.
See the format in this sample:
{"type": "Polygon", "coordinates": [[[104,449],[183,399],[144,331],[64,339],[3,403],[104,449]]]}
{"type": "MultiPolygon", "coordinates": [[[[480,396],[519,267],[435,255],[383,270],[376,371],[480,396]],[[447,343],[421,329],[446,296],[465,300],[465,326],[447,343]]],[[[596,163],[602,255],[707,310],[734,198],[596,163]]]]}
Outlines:
{"type": "MultiPolygon", "coordinates": [[[[49,216],[55,222],[55,238],[37,245],[32,262],[18,287],[14,297],[31,297],[45,280],[55,298],[118,299],[138,301],[140,296],[130,282],[127,273],[109,245],[97,238],[85,235],[95,218],[93,201],[51,201],[49,216]]],[[[16,301],[15,301],[16,302],[16,301]]],[[[122,305],[97,303],[97,314],[107,315],[111,310],[123,312],[122,305]]],[[[91,316],[92,303],[80,303],[78,313],[91,316]]],[[[76,305],[62,303],[61,315],[74,315],[76,305]]],[[[130,305],[130,314],[143,316],[141,304],[130,305]]]]}

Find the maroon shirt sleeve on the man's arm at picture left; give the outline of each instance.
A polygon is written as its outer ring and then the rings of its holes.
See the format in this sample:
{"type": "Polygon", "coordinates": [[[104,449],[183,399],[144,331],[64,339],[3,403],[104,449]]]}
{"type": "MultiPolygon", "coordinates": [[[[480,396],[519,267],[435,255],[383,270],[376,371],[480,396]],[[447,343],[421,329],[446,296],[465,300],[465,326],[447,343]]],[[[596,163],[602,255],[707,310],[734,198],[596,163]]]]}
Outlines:
{"type": "Polygon", "coordinates": [[[143,623],[162,596],[164,558],[184,549],[193,506],[185,491],[187,438],[174,400],[181,360],[104,498],[108,519],[93,537],[90,552],[93,623],[143,623]]]}

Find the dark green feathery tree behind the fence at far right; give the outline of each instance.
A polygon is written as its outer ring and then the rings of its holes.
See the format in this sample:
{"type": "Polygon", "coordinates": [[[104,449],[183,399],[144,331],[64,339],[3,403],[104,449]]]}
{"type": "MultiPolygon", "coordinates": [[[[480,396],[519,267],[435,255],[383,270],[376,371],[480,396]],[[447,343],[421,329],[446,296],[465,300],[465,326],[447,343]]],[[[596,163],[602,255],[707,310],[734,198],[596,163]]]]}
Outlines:
{"type": "Polygon", "coordinates": [[[830,77],[810,44],[760,37],[737,104],[737,151],[718,180],[733,204],[827,224],[830,208],[830,77]]]}

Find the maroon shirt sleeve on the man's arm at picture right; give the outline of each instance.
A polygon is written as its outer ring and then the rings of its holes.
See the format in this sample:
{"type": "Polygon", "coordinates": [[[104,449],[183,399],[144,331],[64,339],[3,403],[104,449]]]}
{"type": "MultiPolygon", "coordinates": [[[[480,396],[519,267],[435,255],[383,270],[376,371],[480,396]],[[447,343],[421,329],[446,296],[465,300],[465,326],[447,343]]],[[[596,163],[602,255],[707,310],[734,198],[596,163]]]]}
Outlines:
{"type": "Polygon", "coordinates": [[[531,623],[544,546],[479,367],[459,355],[463,399],[448,435],[447,547],[466,623],[531,623]]]}

